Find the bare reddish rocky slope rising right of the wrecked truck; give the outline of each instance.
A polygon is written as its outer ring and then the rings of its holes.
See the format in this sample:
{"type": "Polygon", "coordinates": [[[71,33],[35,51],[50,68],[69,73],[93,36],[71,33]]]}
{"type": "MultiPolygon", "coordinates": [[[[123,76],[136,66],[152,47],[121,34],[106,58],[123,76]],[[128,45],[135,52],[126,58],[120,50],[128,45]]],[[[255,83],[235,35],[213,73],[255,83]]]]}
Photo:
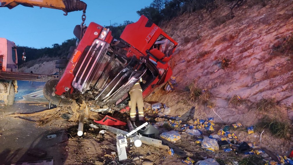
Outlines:
{"type": "MultiPolygon", "coordinates": [[[[229,13],[227,7],[219,6],[212,13],[198,11],[183,15],[166,23],[164,29],[179,43],[171,60],[178,91],[190,83],[209,90],[214,110],[229,123],[255,123],[261,116],[255,114],[252,104],[262,98],[274,98],[283,107],[292,107],[293,103],[292,54],[278,52],[284,38],[293,34],[293,3],[270,1],[264,7],[249,7],[249,3],[234,9],[235,17],[219,26],[217,19],[229,13]],[[219,58],[231,59],[230,66],[222,69],[219,58]],[[246,107],[231,107],[226,99],[234,95],[252,103],[246,107]],[[252,114],[245,117],[248,113],[252,114]]],[[[178,93],[159,92],[147,100],[165,101],[178,109],[176,103],[184,99],[176,97],[178,93]]],[[[198,112],[197,117],[215,116],[210,109],[198,109],[206,110],[198,112]]],[[[280,112],[287,117],[291,111],[280,112]]]]}

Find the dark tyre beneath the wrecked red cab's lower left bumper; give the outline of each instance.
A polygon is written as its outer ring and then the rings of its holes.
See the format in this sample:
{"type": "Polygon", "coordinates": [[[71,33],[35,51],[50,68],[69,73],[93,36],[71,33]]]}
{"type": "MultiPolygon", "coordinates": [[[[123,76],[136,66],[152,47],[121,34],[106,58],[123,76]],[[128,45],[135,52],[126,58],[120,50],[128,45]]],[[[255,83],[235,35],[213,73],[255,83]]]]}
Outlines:
{"type": "Polygon", "coordinates": [[[67,106],[70,104],[70,101],[67,99],[62,99],[59,96],[55,95],[55,93],[54,93],[54,89],[55,89],[58,81],[59,81],[59,79],[55,78],[55,79],[51,79],[46,82],[45,86],[43,87],[44,96],[52,104],[59,105],[59,106],[67,106]]]}

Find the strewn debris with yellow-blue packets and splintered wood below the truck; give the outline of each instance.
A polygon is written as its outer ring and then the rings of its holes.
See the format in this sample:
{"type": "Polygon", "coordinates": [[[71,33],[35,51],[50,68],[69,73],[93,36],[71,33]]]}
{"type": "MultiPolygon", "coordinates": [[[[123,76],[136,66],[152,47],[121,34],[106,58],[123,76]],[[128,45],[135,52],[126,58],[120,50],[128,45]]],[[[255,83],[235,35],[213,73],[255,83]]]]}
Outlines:
{"type": "MultiPolygon", "coordinates": [[[[260,155],[260,158],[257,159],[264,159],[267,161],[268,164],[273,164],[274,161],[277,163],[281,163],[282,161],[285,163],[291,162],[292,160],[286,156],[275,156],[276,159],[272,159],[270,153],[256,145],[256,142],[241,142],[238,135],[235,133],[236,130],[242,130],[242,132],[246,132],[246,134],[252,134],[254,132],[253,126],[248,127],[246,130],[242,128],[242,124],[236,122],[235,124],[231,125],[223,125],[221,123],[215,123],[213,117],[207,119],[200,119],[195,118],[195,107],[191,107],[185,114],[181,116],[171,116],[164,114],[168,110],[165,104],[161,102],[153,103],[147,105],[149,108],[146,111],[146,119],[149,123],[149,126],[157,128],[160,134],[158,133],[158,137],[162,138],[161,143],[166,145],[167,148],[160,150],[160,151],[146,151],[145,154],[149,155],[145,157],[145,155],[140,155],[142,148],[146,145],[142,145],[141,147],[135,147],[133,144],[130,144],[126,147],[127,153],[127,161],[136,161],[136,162],[150,162],[149,164],[160,164],[164,159],[168,156],[171,156],[172,159],[177,159],[178,156],[182,156],[180,159],[181,163],[184,164],[194,164],[194,162],[198,161],[197,163],[211,163],[216,164],[217,161],[215,159],[207,159],[207,158],[215,158],[213,154],[221,155],[222,159],[231,159],[235,162],[240,162],[241,164],[243,161],[239,161],[239,159],[235,159],[235,156],[242,157],[242,159],[246,159],[245,156],[254,156],[260,155]],[[188,144],[186,143],[188,141],[188,144]],[[176,146],[172,143],[176,143],[176,146]],[[189,148],[189,150],[187,149],[189,148]],[[190,150],[191,149],[191,150],[190,150]],[[233,152],[234,151],[234,152],[233,152]],[[186,153],[185,153],[186,152],[186,153]],[[154,158],[154,153],[156,153],[159,158],[163,157],[163,159],[154,158]],[[197,153],[205,153],[201,156],[201,154],[197,153]],[[270,155],[270,156],[269,156],[270,155]],[[227,157],[228,158],[224,158],[227,157]],[[234,156],[234,157],[233,157],[234,156]],[[205,159],[205,160],[202,160],[205,159]],[[279,159],[279,160],[278,160],[279,159]],[[159,160],[159,161],[158,161],[159,160]],[[195,161],[194,161],[195,160],[195,161]],[[211,160],[212,162],[207,162],[211,160]],[[214,162],[215,161],[215,162],[214,162]]],[[[68,121],[74,121],[77,117],[81,117],[81,113],[86,114],[86,112],[80,112],[80,110],[74,110],[75,112],[69,112],[73,117],[67,119],[68,121]],[[73,114],[72,114],[73,113],[73,114]]],[[[25,119],[29,119],[30,121],[40,122],[44,119],[45,114],[52,114],[50,115],[54,119],[57,117],[61,117],[62,114],[65,113],[64,108],[57,108],[55,110],[45,110],[43,112],[37,112],[33,114],[14,114],[14,117],[21,117],[25,119]],[[55,111],[55,112],[54,112],[55,111]],[[56,112],[57,111],[57,112],[56,112]]],[[[115,127],[119,127],[120,131],[125,130],[124,132],[129,132],[127,127],[124,127],[126,123],[126,117],[121,113],[114,113],[112,116],[107,115],[93,115],[87,113],[85,115],[86,123],[89,121],[101,121],[98,124],[105,124],[114,125],[115,127]],[[90,115],[89,115],[90,114],[90,115]],[[115,117],[114,117],[115,116],[115,117]],[[91,117],[91,118],[87,118],[91,117]],[[106,121],[109,122],[106,122],[106,121]],[[120,124],[117,124],[120,123],[120,124]],[[125,123],[125,124],[121,124],[125,123]],[[120,126],[117,126],[120,125],[120,126]],[[121,126],[122,125],[122,126],[121,126]]],[[[47,122],[51,122],[52,119],[48,119],[47,122]]],[[[93,122],[92,122],[93,123],[93,122]]],[[[44,122],[42,122],[44,124],[44,122]]],[[[93,124],[91,124],[93,125],[93,124]]],[[[100,125],[93,125],[93,126],[100,126],[100,125]]],[[[102,159],[98,159],[98,162],[119,162],[117,161],[117,148],[116,148],[116,134],[117,132],[113,131],[112,129],[105,129],[103,127],[93,127],[87,128],[88,125],[84,125],[85,132],[82,137],[78,137],[76,134],[76,130],[74,132],[69,133],[70,141],[80,143],[79,139],[83,140],[90,140],[98,143],[106,143],[105,151],[101,152],[101,158],[106,159],[103,161],[102,159]],[[107,131],[106,131],[107,130],[107,131]],[[114,134],[113,134],[114,133],[114,134]]],[[[107,126],[109,127],[109,126],[107,126]]],[[[116,129],[112,127],[113,129],[116,129]]],[[[117,129],[118,130],[118,129],[117,129]]],[[[116,130],[116,131],[117,131],[116,130]]],[[[50,135],[52,136],[52,134],[50,135]]],[[[152,135],[153,136],[153,135],[152,135]]],[[[53,137],[53,136],[52,136],[53,137]]],[[[153,136],[154,137],[154,136],[153,136]]],[[[132,140],[133,142],[133,140],[132,140]]],[[[97,144],[97,146],[100,144],[97,144]]],[[[96,146],[96,147],[97,147],[96,146]]],[[[151,146],[154,147],[154,146],[151,146]]],[[[156,146],[157,147],[157,146],[156,146]]],[[[154,147],[154,148],[156,148],[154,147]]],[[[149,148],[151,149],[151,148],[149,148]]],[[[119,154],[119,152],[118,152],[119,154]]],[[[87,158],[88,159],[88,158],[87,158]]],[[[218,159],[217,159],[218,160],[218,159]]],[[[91,160],[93,161],[93,160],[91,160]]],[[[97,162],[97,160],[93,161],[97,162]]],[[[231,161],[232,162],[232,161],[231,161]]],[[[93,164],[89,163],[88,161],[83,161],[84,164],[93,164]]],[[[223,163],[220,163],[223,164],[223,163]]]]}

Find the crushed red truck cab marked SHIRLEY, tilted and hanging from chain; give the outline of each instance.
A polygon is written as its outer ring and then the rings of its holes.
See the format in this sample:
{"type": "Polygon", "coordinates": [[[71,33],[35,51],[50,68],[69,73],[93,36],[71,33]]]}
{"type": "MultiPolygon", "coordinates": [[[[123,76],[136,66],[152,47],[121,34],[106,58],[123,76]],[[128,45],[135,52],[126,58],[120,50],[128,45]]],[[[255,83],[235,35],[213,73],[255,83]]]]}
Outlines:
{"type": "Polygon", "coordinates": [[[178,43],[161,28],[141,16],[120,38],[90,23],[61,78],[46,83],[44,96],[60,106],[86,101],[93,111],[109,112],[128,105],[128,91],[140,78],[146,81],[141,83],[144,97],[170,79],[168,61],[178,43]]]}

